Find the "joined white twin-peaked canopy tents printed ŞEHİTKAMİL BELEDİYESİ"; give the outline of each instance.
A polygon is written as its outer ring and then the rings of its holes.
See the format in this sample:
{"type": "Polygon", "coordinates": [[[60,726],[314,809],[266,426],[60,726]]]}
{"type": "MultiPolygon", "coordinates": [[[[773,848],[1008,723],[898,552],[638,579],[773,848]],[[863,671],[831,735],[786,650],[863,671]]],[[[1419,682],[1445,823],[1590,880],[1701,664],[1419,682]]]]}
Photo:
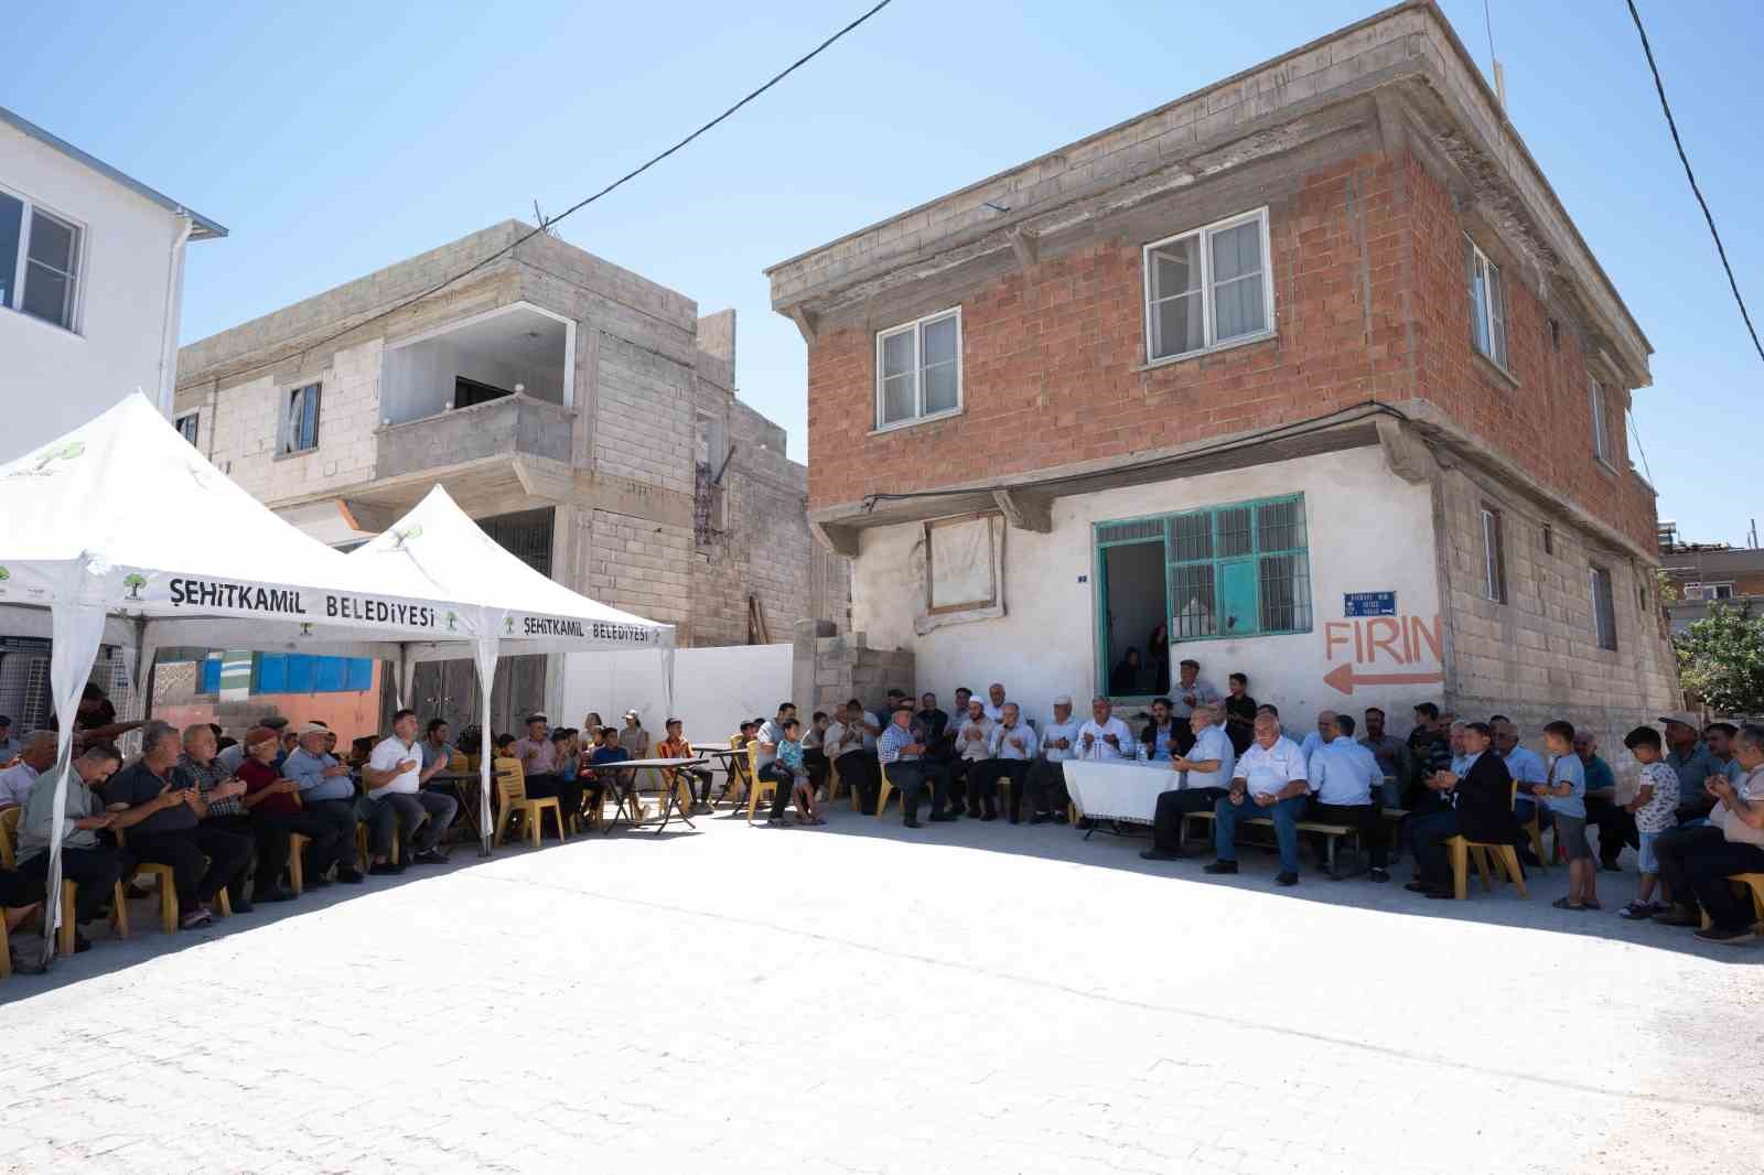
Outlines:
{"type": "MultiPolygon", "coordinates": [[[[473,561],[485,563],[490,554],[476,543],[506,554],[445,494],[441,503],[475,536],[473,561]]],[[[418,538],[420,520],[372,545],[393,558],[344,556],[215,469],[139,392],[53,445],[0,466],[0,517],[7,519],[0,536],[0,632],[41,635],[48,628],[55,642],[49,681],[62,723],[49,843],[51,932],[60,914],[71,715],[99,644],[134,647],[143,693],[153,651],[173,644],[390,658],[400,663],[406,690],[413,660],[473,656],[485,693],[505,642],[520,651],[672,649],[672,626],[603,609],[513,556],[506,558],[524,575],[501,566],[494,572],[503,582],[497,591],[439,591],[443,577],[425,568],[453,573],[455,561],[439,549],[469,536],[462,538],[457,522],[439,510],[436,515],[434,540],[422,543],[420,558],[395,558],[418,538]]],[[[459,580],[478,582],[464,573],[459,580]]],[[[53,942],[53,933],[46,939],[53,942]]]]}

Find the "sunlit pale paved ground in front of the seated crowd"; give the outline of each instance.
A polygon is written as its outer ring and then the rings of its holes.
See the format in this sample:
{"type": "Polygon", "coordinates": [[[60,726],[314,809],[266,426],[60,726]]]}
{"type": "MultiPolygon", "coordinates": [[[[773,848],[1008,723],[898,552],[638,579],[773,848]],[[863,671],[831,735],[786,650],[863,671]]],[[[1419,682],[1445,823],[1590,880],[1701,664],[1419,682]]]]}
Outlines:
{"type": "Polygon", "coordinates": [[[1559,870],[1445,903],[1053,826],[699,827],[18,976],[0,1170],[1764,1170],[1764,949],[1552,910],[1559,870]]]}

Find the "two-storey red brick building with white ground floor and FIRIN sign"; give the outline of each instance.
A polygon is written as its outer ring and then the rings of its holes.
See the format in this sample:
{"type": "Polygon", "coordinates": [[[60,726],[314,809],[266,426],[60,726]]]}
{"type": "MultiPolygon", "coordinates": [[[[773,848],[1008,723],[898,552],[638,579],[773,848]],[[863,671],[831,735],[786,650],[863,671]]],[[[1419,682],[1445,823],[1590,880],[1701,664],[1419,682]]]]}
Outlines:
{"type": "Polygon", "coordinates": [[[1616,752],[1676,697],[1651,346],[1432,4],[767,273],[811,524],[921,688],[1143,702],[1168,653],[1289,725],[1443,697],[1616,752]]]}

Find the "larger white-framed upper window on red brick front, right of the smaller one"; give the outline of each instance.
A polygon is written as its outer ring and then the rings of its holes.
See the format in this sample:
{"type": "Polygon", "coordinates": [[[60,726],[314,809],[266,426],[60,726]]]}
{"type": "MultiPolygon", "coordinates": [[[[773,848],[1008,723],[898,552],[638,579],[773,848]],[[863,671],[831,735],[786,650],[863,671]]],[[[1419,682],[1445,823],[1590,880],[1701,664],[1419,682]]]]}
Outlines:
{"type": "Polygon", "coordinates": [[[1272,330],[1267,208],[1145,247],[1148,363],[1272,330]]]}

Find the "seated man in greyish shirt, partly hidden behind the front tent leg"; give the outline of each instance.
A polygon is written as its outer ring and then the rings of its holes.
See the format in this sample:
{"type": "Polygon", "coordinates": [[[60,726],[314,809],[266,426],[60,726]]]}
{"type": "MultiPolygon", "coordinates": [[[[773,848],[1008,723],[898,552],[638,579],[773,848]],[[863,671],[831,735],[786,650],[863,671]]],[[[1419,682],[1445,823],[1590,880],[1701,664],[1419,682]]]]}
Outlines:
{"type": "MultiPolygon", "coordinates": [[[[122,873],[122,854],[99,838],[116,817],[104,812],[97,789],[122,766],[122,755],[109,743],[90,743],[74,759],[67,776],[67,794],[62,801],[62,879],[78,884],[76,909],[62,917],[74,919],[74,951],[92,944],[79,926],[99,917],[111,903],[116,877],[122,873]]],[[[55,776],[42,776],[25,799],[18,824],[18,882],[23,893],[9,903],[28,905],[42,902],[49,884],[49,838],[55,836],[55,776]]]]}

